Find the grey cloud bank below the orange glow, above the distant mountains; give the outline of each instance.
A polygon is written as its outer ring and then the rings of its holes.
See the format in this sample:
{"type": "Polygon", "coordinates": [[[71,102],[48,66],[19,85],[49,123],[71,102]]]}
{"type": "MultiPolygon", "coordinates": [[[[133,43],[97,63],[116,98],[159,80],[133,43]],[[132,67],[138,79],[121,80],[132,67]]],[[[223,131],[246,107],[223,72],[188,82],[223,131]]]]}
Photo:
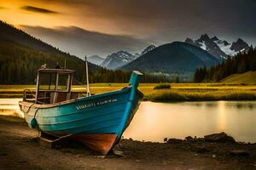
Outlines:
{"type": "Polygon", "coordinates": [[[147,40],[125,35],[111,35],[88,31],[76,26],[45,28],[42,26],[21,26],[23,30],[49,42],[70,54],[83,57],[94,54],[106,57],[119,50],[140,53],[149,45],[147,40]]]}

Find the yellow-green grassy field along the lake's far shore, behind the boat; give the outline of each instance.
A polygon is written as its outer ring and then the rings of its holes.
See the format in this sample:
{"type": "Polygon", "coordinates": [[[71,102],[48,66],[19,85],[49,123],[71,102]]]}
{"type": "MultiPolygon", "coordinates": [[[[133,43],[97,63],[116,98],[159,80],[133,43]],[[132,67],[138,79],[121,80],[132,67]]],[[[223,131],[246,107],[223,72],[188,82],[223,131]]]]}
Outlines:
{"type": "MultiPolygon", "coordinates": [[[[96,83],[90,84],[92,94],[102,94],[119,90],[126,83],[96,83]]],[[[172,83],[170,89],[157,89],[157,84],[143,83],[139,89],[144,99],[157,102],[170,101],[202,101],[202,100],[256,100],[256,84],[226,84],[226,83],[172,83]]],[[[1,98],[20,98],[25,88],[35,89],[34,85],[0,85],[1,98]]],[[[73,86],[73,91],[85,92],[82,86],[73,86]]]]}

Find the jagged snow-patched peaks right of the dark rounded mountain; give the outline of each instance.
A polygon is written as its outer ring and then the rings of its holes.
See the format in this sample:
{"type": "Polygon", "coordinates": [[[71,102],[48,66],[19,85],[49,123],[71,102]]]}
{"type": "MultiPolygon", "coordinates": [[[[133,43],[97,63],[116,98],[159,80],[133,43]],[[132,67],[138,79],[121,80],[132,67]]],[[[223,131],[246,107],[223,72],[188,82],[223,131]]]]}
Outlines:
{"type": "Polygon", "coordinates": [[[249,48],[247,42],[243,41],[241,38],[238,38],[236,42],[230,43],[216,36],[209,37],[207,34],[201,35],[201,37],[196,40],[192,40],[188,37],[185,42],[207,50],[207,52],[219,60],[227,59],[229,56],[234,56],[243,50],[247,51],[249,48]]]}

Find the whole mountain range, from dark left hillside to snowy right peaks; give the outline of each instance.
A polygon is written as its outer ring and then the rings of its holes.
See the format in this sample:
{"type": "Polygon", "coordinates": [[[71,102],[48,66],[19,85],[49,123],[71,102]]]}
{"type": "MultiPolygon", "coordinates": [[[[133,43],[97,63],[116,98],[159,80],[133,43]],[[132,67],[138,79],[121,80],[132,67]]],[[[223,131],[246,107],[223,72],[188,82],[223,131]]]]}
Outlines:
{"type": "MultiPolygon", "coordinates": [[[[218,37],[202,35],[197,40],[187,38],[185,42],[172,42],[159,47],[150,45],[140,54],[131,54],[125,50],[109,54],[106,59],[98,55],[88,57],[90,72],[108,69],[125,71],[138,70],[145,73],[168,74],[180,77],[190,75],[203,66],[218,65],[229,56],[241,50],[247,50],[248,44],[239,38],[236,42],[227,42],[218,37]]],[[[54,68],[59,62],[76,71],[75,77],[84,80],[84,61],[74,55],[62,52],[48,43],[32,37],[24,31],[0,21],[0,84],[34,83],[35,71],[47,64],[54,68]],[[26,80],[26,81],[24,81],[26,80]]],[[[187,76],[186,76],[187,77],[187,76]]],[[[98,79],[100,82],[101,79],[98,79]]]]}

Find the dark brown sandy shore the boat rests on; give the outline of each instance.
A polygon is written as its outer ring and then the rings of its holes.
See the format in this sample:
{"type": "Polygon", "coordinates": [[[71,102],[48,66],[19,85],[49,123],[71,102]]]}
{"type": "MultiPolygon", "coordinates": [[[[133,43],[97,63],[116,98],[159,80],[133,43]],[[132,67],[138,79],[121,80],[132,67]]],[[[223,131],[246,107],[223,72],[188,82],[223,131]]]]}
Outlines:
{"type": "Polygon", "coordinates": [[[102,158],[79,144],[49,149],[37,136],[20,119],[0,116],[0,169],[256,169],[256,144],[123,139],[116,149],[124,156],[102,158]],[[230,150],[247,150],[249,156],[231,156],[230,150]]]}

